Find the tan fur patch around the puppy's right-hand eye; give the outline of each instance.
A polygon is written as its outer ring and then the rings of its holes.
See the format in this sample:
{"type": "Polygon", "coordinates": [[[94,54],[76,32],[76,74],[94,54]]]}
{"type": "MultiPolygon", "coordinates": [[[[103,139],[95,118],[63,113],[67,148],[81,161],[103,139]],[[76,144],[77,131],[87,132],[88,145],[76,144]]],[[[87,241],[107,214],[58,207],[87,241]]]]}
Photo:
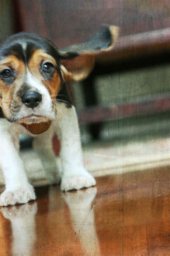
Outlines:
{"type": "Polygon", "coordinates": [[[38,78],[44,86],[46,86],[53,102],[55,102],[56,95],[60,91],[61,78],[56,69],[49,80],[44,78],[40,72],[40,67],[43,62],[50,62],[55,67],[57,66],[55,59],[51,55],[43,52],[42,50],[35,50],[29,60],[28,68],[29,71],[38,78]]]}

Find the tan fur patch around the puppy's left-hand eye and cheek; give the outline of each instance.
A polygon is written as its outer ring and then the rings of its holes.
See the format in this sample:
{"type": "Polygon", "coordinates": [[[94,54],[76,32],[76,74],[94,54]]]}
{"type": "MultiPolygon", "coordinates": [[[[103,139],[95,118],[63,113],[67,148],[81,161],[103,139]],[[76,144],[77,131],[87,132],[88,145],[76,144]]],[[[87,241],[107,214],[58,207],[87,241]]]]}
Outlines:
{"type": "Polygon", "coordinates": [[[7,84],[0,78],[0,107],[3,109],[5,117],[9,118],[11,116],[11,108],[20,104],[20,99],[17,97],[13,103],[12,101],[16,91],[23,83],[26,68],[24,62],[16,58],[15,55],[10,55],[0,61],[0,72],[4,69],[12,69],[15,72],[15,79],[11,84],[7,84]],[[13,107],[11,103],[14,104],[13,107]]]}

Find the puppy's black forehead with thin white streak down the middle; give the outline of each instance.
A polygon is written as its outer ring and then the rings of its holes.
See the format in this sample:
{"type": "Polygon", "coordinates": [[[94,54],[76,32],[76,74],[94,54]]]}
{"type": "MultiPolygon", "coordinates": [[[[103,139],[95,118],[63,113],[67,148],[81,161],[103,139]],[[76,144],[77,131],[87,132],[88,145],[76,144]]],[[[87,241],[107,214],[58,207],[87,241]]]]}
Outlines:
{"type": "Polygon", "coordinates": [[[15,34],[4,42],[0,48],[0,59],[14,55],[19,60],[28,63],[36,50],[51,55],[56,62],[60,60],[59,51],[51,41],[37,34],[25,32],[15,34]]]}

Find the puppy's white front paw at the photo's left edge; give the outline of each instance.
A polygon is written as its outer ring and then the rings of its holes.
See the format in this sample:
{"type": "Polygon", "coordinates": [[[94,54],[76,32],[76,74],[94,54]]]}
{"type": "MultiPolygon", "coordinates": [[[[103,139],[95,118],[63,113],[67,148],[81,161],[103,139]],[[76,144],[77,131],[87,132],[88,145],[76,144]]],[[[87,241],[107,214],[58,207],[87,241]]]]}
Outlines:
{"type": "Polygon", "coordinates": [[[14,190],[5,190],[0,197],[0,206],[18,205],[35,200],[36,195],[31,185],[14,190]]]}

